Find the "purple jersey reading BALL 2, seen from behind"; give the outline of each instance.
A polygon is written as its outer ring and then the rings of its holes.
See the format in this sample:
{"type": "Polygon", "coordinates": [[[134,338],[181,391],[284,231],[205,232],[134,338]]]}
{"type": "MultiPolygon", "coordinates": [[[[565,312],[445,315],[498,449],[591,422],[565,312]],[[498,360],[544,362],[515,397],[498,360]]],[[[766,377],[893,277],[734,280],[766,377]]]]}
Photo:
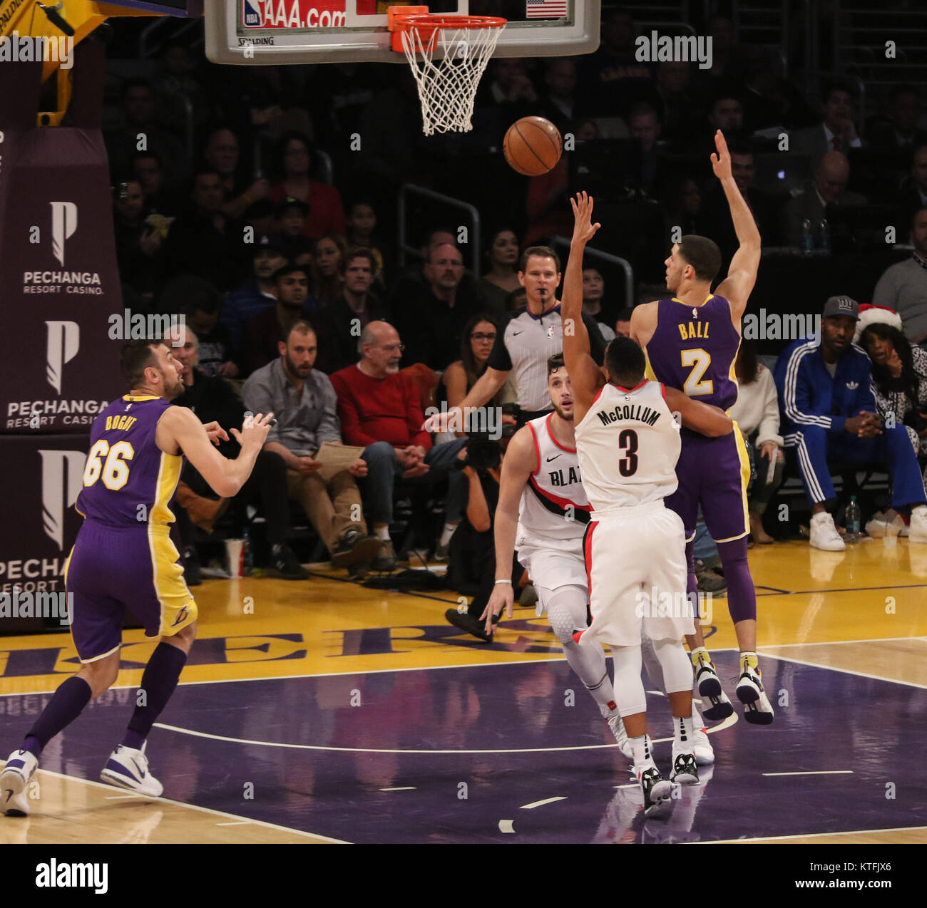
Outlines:
{"type": "Polygon", "coordinates": [[[730,303],[709,296],[702,306],[657,301],[654,336],[644,348],[649,379],[729,410],[737,401],[734,363],[741,335],[730,320],[730,303]]]}

